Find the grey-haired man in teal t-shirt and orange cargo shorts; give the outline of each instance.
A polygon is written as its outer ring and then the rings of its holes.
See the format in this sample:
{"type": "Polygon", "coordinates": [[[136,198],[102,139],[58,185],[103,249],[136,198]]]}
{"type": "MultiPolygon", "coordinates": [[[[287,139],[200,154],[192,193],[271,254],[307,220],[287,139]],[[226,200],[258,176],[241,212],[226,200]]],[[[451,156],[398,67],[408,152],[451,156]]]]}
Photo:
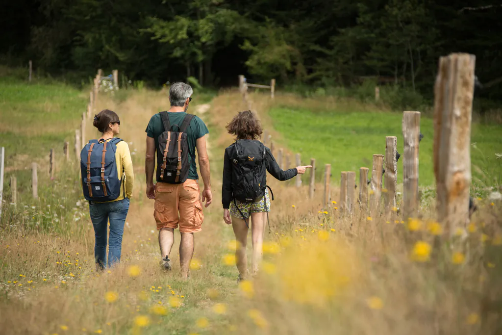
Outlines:
{"type": "MultiPolygon", "coordinates": [[[[171,108],[167,111],[169,123],[177,130],[181,126],[186,111],[192,100],[193,90],[185,83],[175,83],[169,89],[169,101],[171,108]]],[[[204,122],[197,116],[188,124],[187,133],[188,156],[190,158],[190,169],[187,180],[182,184],[169,184],[159,181],[153,183],[155,169],[155,154],[163,156],[159,146],[159,136],[164,131],[162,117],[160,113],[155,114],[148,123],[147,152],[145,159],[145,173],[147,176],[147,197],[155,199],[154,217],[159,231],[159,246],[162,261],[161,267],[171,270],[171,260],[169,255],[174,244],[174,229],[180,228],[180,273],[183,278],[188,278],[190,262],[194,250],[194,235],[201,231],[204,213],[202,212],[202,201],[206,201],[205,207],[211,204],[211,182],[209,174],[209,159],[206,150],[205,135],[209,133],[204,122]],[[204,182],[202,191],[202,201],[197,174],[197,164],[195,163],[195,149],[199,159],[200,174],[204,182]],[[179,215],[178,215],[179,213],[179,215]]]]}

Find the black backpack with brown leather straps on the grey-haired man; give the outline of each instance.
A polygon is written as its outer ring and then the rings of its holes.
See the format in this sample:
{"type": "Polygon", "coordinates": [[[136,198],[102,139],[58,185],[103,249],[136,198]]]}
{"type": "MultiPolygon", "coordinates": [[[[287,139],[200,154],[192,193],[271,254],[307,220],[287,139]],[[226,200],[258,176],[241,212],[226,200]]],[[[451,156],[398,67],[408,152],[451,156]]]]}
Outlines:
{"type": "Polygon", "coordinates": [[[157,147],[157,182],[182,184],[187,180],[191,163],[186,130],[195,116],[187,114],[181,126],[171,126],[167,111],[161,111],[160,116],[164,132],[159,135],[157,147]]]}

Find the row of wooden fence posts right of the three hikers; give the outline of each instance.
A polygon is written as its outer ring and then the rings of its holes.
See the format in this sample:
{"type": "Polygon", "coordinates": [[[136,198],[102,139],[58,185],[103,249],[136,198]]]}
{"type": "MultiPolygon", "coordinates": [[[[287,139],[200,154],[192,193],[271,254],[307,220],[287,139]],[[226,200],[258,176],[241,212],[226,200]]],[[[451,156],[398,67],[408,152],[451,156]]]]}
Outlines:
{"type": "MultiPolygon", "coordinates": [[[[469,220],[470,129],[474,64],[475,56],[465,53],[454,53],[441,57],[436,77],[433,162],[437,185],[436,210],[438,220],[444,224],[445,236],[451,236],[456,227],[465,225],[469,220]]],[[[377,87],[375,98],[379,96],[380,90],[377,87]]],[[[419,143],[422,138],[420,116],[419,111],[403,112],[403,199],[400,206],[402,219],[417,217],[420,212],[418,188],[419,143]]],[[[262,139],[262,142],[268,145],[274,154],[275,145],[268,130],[264,130],[262,139]]],[[[385,155],[374,154],[372,157],[370,180],[368,180],[369,168],[367,167],[359,169],[357,186],[355,171],[341,171],[340,198],[337,203],[341,215],[352,215],[358,202],[360,210],[369,212],[372,216],[378,216],[382,209],[382,199],[385,201],[384,212],[386,215],[397,211],[398,138],[387,136],[385,144],[385,155]],[[385,178],[383,178],[384,175],[385,178]],[[385,188],[383,188],[384,179],[385,188]],[[370,185],[369,191],[368,185],[370,185]],[[357,188],[359,189],[358,197],[355,195],[357,188]]],[[[279,166],[284,169],[283,154],[284,150],[280,148],[276,160],[279,166]]],[[[289,159],[286,161],[286,168],[289,168],[289,159]]],[[[296,164],[297,166],[301,165],[299,153],[296,154],[296,164]]],[[[312,165],[312,169],[308,194],[309,198],[313,198],[316,171],[314,158],[310,160],[310,165],[312,165]]],[[[323,207],[331,205],[330,176],[331,165],[326,164],[324,167],[323,207]]],[[[302,186],[301,178],[301,175],[297,175],[295,183],[297,187],[302,186]]]]}

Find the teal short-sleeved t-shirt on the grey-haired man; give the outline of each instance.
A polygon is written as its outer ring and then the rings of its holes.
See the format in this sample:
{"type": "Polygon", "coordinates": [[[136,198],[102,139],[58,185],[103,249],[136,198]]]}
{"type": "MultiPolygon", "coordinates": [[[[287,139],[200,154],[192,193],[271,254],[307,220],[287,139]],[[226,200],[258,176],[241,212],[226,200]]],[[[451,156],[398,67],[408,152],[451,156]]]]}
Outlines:
{"type": "MultiPolygon", "coordinates": [[[[176,113],[168,111],[167,114],[169,115],[169,122],[171,123],[171,126],[181,126],[185,115],[187,115],[184,111],[179,111],[176,113]]],[[[157,156],[159,155],[157,151],[157,148],[159,147],[159,135],[164,131],[165,130],[164,125],[162,124],[162,118],[160,114],[157,113],[152,116],[152,118],[150,118],[147,129],[145,130],[147,136],[153,137],[155,140],[155,152],[157,153],[157,156]]],[[[190,122],[190,125],[187,128],[186,132],[188,140],[188,155],[190,156],[191,161],[190,170],[188,171],[188,179],[199,179],[199,175],[197,174],[197,163],[195,162],[195,145],[197,139],[206,134],[209,134],[209,130],[207,129],[207,126],[204,124],[204,122],[200,120],[198,116],[195,116],[190,122]]]]}

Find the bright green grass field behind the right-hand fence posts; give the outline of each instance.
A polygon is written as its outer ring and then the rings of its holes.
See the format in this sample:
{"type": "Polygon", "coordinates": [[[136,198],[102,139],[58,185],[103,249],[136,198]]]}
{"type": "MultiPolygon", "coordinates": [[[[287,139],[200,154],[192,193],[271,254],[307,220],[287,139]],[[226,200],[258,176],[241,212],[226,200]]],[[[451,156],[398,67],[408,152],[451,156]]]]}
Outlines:
{"type": "MultiPolygon", "coordinates": [[[[402,114],[360,113],[330,110],[312,112],[307,109],[276,107],[270,111],[274,128],[283,134],[288,147],[302,154],[302,163],[316,159],[316,177],[321,180],[324,164],[331,164],[332,181],[339,182],[341,171],[371,169],[372,155],[385,155],[385,137],[398,137],[398,183],[403,181],[402,114]]],[[[419,183],[434,185],[433,120],[422,116],[420,131],[419,183]]],[[[473,124],[471,161],[473,183],[495,186],[500,183],[500,163],[495,153],[502,152],[502,131],[497,125],[473,124]]]]}

